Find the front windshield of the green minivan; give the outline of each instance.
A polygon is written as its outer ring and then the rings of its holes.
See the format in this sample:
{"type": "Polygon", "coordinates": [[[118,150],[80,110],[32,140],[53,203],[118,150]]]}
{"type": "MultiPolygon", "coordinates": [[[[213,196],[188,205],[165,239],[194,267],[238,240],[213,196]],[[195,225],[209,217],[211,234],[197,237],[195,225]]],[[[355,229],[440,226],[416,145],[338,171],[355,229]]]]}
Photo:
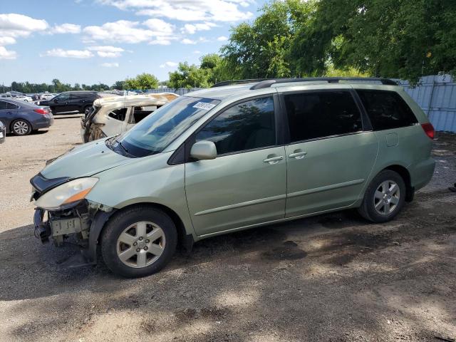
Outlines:
{"type": "Polygon", "coordinates": [[[219,100],[212,98],[181,96],[155,110],[120,136],[118,141],[134,157],[162,152],[170,142],[219,103],[219,100]]]}

